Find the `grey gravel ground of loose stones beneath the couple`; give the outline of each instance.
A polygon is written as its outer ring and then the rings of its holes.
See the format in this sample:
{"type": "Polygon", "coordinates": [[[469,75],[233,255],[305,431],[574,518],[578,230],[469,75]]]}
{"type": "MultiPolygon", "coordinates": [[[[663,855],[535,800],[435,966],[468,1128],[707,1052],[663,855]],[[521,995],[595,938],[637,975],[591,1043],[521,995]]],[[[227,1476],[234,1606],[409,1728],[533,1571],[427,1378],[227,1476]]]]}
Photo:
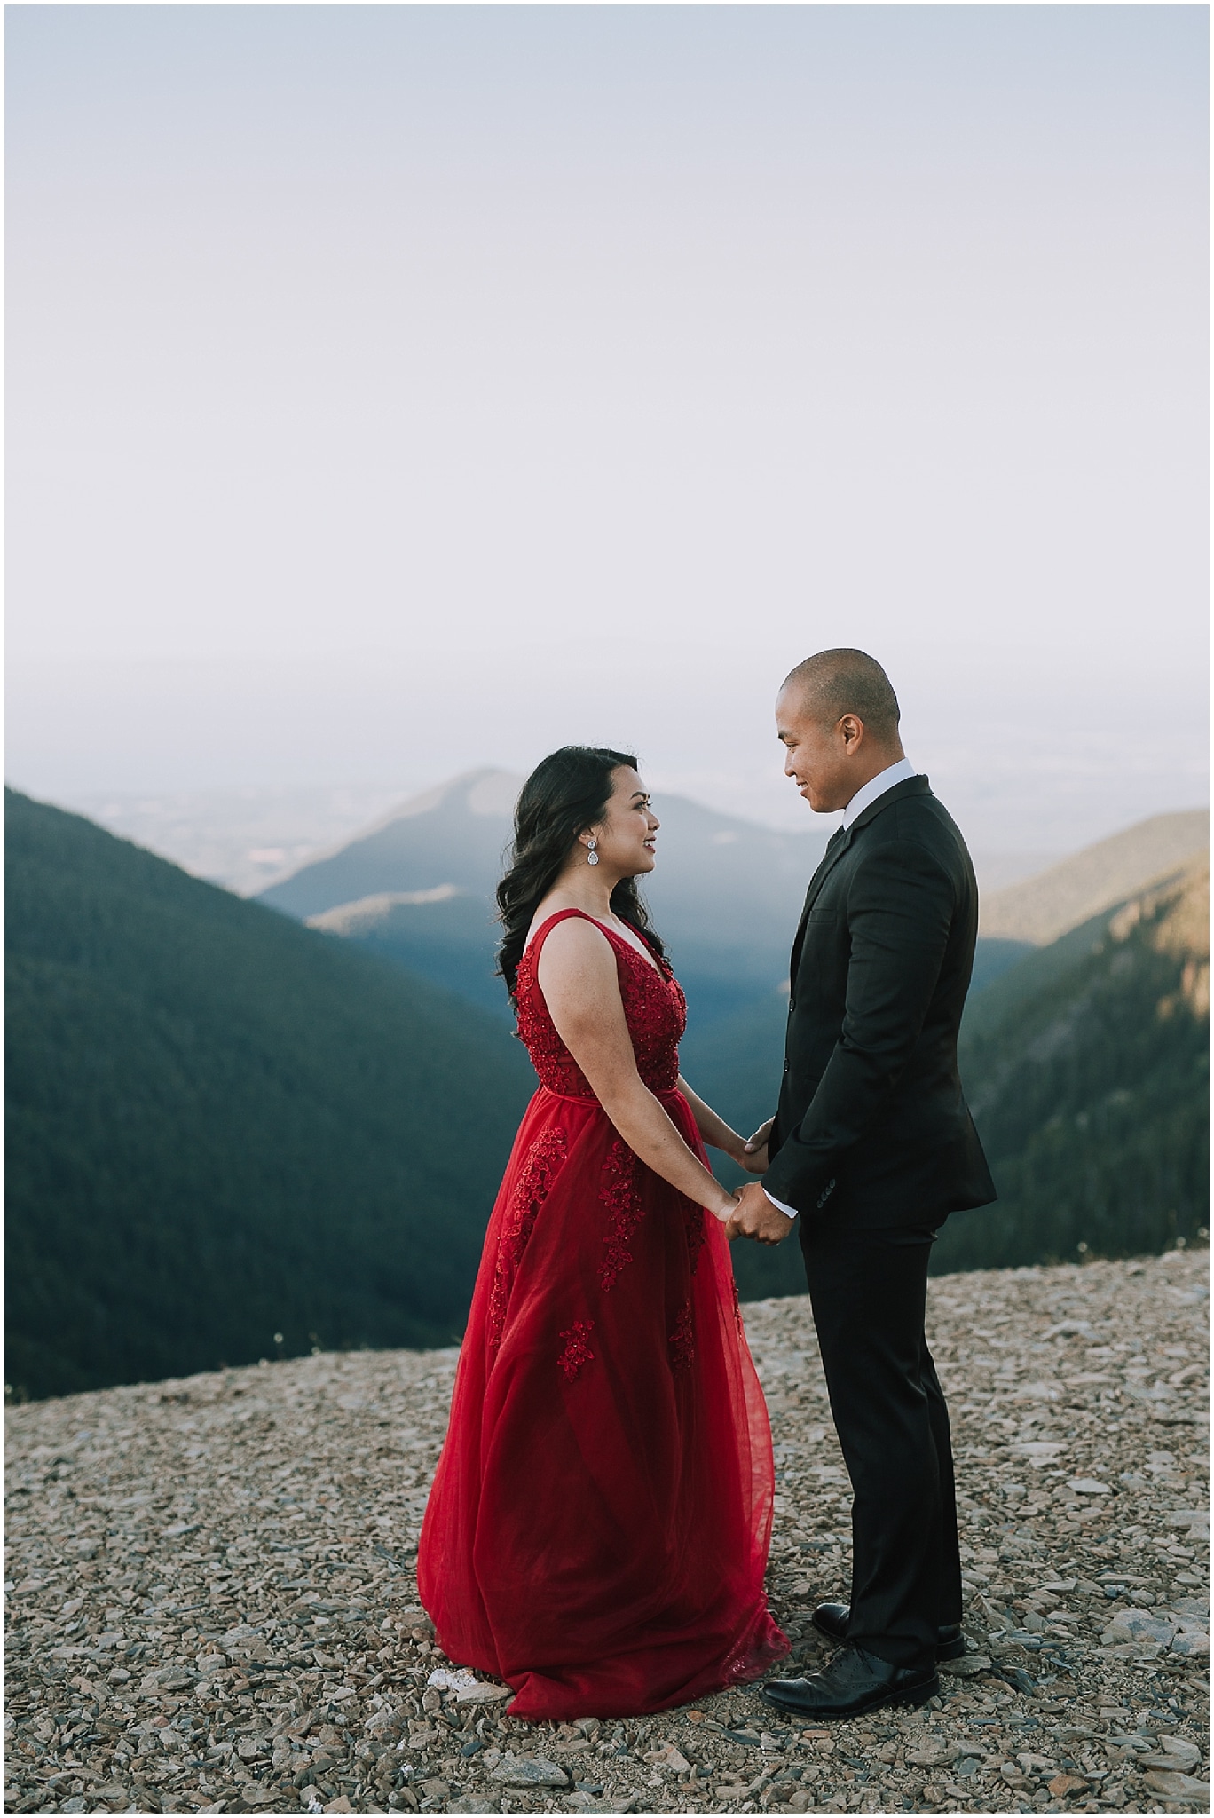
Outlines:
{"type": "MultiPolygon", "coordinates": [[[[413,1578],[453,1351],[9,1413],[13,1811],[1192,1811],[1205,1765],[1205,1256],[945,1276],[970,1654],[829,1729],[754,1691],[527,1725],[438,1689],[413,1578]]],[[[751,1305],[771,1600],[809,1669],[849,1494],[801,1298],[751,1305]]]]}

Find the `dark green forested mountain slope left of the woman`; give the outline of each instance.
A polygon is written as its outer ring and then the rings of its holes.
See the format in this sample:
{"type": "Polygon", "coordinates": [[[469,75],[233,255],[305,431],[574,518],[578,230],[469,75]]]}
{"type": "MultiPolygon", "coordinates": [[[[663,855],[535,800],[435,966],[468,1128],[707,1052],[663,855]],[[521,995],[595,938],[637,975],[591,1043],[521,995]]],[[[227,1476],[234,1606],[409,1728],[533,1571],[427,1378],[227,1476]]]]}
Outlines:
{"type": "Polygon", "coordinates": [[[7,865],[9,1383],[449,1342],[534,1087],[502,1025],[15,793],[7,865]]]}

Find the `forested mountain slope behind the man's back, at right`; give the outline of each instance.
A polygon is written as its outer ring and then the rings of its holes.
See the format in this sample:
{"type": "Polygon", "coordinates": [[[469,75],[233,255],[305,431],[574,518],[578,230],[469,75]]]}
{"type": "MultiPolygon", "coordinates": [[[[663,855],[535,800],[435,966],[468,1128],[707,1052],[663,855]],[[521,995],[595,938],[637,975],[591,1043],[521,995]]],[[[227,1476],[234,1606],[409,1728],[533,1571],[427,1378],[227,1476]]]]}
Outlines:
{"type": "Polygon", "coordinates": [[[940,1269],[1132,1256],[1209,1224],[1209,858],[974,998],[961,1076],[1000,1204],[940,1269]]]}

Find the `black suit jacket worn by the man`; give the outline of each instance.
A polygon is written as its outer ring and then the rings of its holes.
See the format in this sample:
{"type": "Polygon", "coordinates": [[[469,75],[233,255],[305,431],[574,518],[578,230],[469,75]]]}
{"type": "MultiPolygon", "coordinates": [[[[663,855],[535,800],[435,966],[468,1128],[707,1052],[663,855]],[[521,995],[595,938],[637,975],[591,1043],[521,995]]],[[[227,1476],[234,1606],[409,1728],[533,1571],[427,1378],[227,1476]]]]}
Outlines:
{"type": "Polygon", "coordinates": [[[860,1225],[994,1200],[956,1056],[976,938],[965,842],[910,776],[836,834],[805,896],[763,1176],[778,1200],[860,1225]]]}

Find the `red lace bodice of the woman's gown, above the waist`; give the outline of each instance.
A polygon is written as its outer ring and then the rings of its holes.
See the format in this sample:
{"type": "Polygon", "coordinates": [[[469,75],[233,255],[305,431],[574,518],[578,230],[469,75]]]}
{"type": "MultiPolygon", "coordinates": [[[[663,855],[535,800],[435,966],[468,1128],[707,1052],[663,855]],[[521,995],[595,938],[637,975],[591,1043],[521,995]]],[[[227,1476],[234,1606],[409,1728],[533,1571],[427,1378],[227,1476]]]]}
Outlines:
{"type": "MultiPolygon", "coordinates": [[[[551,1093],[567,1098],[592,1098],[591,1084],[582,1067],[572,1058],[556,1033],[549,1016],[549,1007],[540,991],[536,969],[540,949],[549,931],[569,916],[582,916],[602,929],[616,954],[616,976],[623,1000],[623,1016],[632,1036],[636,1071],[651,1093],[671,1093],[678,1082],[678,1044],[687,1027],[687,1000],[665,960],[658,960],[662,971],[654,971],[649,960],[642,958],[636,947],[612,929],[583,914],[582,909],[558,909],[542,927],[536,929],[522,960],[518,962],[518,980],[514,1002],[518,1004],[518,1034],[531,1065],[540,1074],[540,1084],[551,1093]]],[[[656,954],[654,954],[656,958],[656,954]]]]}

